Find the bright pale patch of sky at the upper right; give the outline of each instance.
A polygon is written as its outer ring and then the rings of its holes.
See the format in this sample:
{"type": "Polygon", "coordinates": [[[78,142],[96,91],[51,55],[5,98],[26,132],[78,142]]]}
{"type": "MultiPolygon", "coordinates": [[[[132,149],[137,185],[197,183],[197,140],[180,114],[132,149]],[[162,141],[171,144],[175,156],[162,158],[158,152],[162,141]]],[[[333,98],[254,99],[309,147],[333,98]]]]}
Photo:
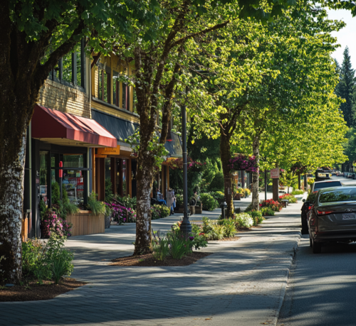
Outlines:
{"type": "Polygon", "coordinates": [[[356,69],[356,16],[352,17],[350,11],[347,10],[328,10],[328,14],[330,19],[337,19],[346,23],[346,26],[340,31],[332,33],[333,36],[337,37],[337,43],[341,45],[333,53],[333,58],[341,65],[342,53],[348,46],[352,68],[356,69]]]}

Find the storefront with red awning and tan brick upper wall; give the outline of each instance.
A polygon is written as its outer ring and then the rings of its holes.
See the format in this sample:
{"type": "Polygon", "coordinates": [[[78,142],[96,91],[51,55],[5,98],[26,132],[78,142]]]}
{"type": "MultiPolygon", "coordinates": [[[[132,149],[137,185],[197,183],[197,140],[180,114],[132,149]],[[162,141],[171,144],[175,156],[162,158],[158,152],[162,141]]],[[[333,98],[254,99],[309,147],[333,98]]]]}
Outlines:
{"type": "Polygon", "coordinates": [[[38,205],[43,200],[51,207],[51,185],[61,182],[71,202],[85,204],[93,151],[116,146],[116,138],[90,119],[89,86],[90,60],[80,42],[49,75],[28,127],[23,211],[29,237],[41,237],[38,205]]]}

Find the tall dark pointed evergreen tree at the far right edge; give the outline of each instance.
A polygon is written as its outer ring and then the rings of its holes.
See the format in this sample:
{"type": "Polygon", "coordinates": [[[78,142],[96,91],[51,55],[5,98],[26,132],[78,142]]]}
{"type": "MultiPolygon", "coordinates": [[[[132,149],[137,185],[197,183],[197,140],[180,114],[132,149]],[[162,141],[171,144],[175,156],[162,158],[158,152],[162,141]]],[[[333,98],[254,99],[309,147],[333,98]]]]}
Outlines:
{"type": "Polygon", "coordinates": [[[355,109],[355,107],[352,108],[352,94],[355,90],[355,70],[351,67],[351,58],[348,47],[345,48],[343,55],[344,59],[340,69],[340,83],[337,85],[335,92],[342,99],[346,100],[346,102],[340,105],[340,109],[344,114],[347,126],[351,127],[355,121],[352,112],[352,109],[355,109]]]}

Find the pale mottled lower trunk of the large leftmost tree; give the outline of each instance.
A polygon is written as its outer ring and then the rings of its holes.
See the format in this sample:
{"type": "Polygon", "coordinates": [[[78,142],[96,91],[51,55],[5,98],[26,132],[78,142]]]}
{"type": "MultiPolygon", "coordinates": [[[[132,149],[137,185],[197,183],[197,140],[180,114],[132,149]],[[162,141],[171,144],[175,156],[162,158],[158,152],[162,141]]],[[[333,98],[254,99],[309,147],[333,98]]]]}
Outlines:
{"type": "Polygon", "coordinates": [[[21,221],[23,206],[23,173],[26,154],[26,133],[19,139],[20,151],[3,147],[0,165],[0,280],[21,281],[21,221]],[[4,155],[5,152],[5,155],[4,155]],[[7,155],[6,155],[6,152],[7,155]],[[9,153],[11,152],[11,153],[9,153]],[[10,160],[6,160],[6,156],[10,160]],[[14,159],[11,159],[15,156],[14,159]]]}

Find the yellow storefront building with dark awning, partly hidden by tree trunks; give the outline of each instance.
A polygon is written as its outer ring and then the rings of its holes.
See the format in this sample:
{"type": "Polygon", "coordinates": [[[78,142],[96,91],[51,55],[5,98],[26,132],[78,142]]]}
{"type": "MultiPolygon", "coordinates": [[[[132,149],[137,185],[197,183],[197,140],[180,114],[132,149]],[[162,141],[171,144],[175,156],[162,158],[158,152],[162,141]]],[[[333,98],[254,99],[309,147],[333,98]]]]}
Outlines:
{"type": "MultiPolygon", "coordinates": [[[[137,160],[125,140],[140,128],[140,120],[135,112],[133,87],[117,80],[119,75],[130,77],[132,67],[115,55],[93,63],[91,115],[117,139],[115,151],[98,149],[93,153],[93,189],[100,200],[105,198],[108,183],[112,185],[112,193],[135,197],[137,160]]],[[[182,157],[182,143],[177,134],[172,133],[172,141],[167,141],[165,146],[170,156],[182,157]]],[[[166,195],[169,189],[169,166],[166,163],[157,173],[157,180],[162,194],[166,195]]]]}

